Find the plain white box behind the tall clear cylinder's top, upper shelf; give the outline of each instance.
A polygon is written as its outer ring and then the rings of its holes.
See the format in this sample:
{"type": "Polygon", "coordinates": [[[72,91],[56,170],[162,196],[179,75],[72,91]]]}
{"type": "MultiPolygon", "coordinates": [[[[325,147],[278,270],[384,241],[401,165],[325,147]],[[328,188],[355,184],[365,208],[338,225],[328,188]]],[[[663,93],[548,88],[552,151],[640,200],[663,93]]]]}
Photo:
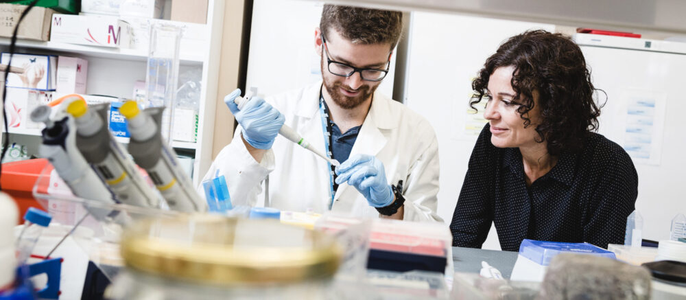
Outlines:
{"type": "Polygon", "coordinates": [[[180,58],[202,60],[202,55],[207,51],[209,39],[207,38],[205,24],[147,19],[134,16],[121,16],[121,19],[128,22],[133,28],[133,49],[140,49],[147,53],[150,45],[151,24],[163,23],[181,28],[181,45],[179,47],[180,58]]]}

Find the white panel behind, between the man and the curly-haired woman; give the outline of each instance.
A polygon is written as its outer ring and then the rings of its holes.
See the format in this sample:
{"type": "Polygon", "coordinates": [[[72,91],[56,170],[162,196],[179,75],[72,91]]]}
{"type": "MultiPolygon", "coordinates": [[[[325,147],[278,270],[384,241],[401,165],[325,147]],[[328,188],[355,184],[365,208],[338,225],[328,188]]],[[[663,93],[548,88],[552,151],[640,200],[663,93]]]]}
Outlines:
{"type": "MultiPolygon", "coordinates": [[[[554,25],[413,12],[405,104],[429,119],[438,137],[440,191],[438,215],[447,224],[460,195],[476,137],[460,137],[471,81],[486,58],[510,36],[525,30],[554,30],[554,25]]],[[[483,246],[500,249],[495,227],[483,246]]]]}

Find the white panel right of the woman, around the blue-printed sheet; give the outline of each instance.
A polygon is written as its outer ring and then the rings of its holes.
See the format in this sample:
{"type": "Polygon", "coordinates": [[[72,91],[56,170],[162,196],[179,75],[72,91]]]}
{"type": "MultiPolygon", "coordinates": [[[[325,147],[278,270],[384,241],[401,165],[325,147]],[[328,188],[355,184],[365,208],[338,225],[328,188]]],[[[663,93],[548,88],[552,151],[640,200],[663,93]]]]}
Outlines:
{"type": "MultiPolygon", "coordinates": [[[[607,93],[600,133],[622,145],[626,109],[632,95],[665,97],[664,130],[659,165],[633,159],[639,174],[636,209],[644,220],[643,238],[669,238],[672,218],[686,214],[686,54],[582,46],[593,84],[607,93]]],[[[602,97],[601,97],[602,99],[602,97]]]]}

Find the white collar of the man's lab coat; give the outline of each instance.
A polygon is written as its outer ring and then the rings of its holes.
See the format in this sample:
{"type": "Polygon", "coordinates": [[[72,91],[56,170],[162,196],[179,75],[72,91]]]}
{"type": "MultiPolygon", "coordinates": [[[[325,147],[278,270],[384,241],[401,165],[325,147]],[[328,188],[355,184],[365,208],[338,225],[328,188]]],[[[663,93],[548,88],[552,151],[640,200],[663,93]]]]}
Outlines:
{"type": "MultiPolygon", "coordinates": [[[[305,88],[305,91],[303,91],[303,99],[298,103],[298,109],[296,110],[296,115],[298,115],[298,117],[319,117],[317,113],[319,111],[319,96],[321,89],[322,80],[305,88]]],[[[374,93],[369,113],[364,119],[364,124],[371,118],[374,121],[373,124],[375,124],[377,128],[395,128],[398,125],[398,121],[393,119],[391,101],[393,100],[390,100],[377,89],[374,93]]]]}

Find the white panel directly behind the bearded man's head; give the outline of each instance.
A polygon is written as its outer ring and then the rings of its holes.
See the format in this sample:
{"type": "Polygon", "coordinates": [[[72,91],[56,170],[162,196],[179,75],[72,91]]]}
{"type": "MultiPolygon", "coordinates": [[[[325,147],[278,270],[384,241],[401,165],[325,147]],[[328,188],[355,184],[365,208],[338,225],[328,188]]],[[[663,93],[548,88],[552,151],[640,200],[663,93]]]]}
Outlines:
{"type": "MultiPolygon", "coordinates": [[[[314,47],[322,3],[311,0],[255,0],[250,28],[246,86],[274,95],[322,80],[314,47]]],[[[396,56],[378,91],[392,97],[396,56]]]]}

